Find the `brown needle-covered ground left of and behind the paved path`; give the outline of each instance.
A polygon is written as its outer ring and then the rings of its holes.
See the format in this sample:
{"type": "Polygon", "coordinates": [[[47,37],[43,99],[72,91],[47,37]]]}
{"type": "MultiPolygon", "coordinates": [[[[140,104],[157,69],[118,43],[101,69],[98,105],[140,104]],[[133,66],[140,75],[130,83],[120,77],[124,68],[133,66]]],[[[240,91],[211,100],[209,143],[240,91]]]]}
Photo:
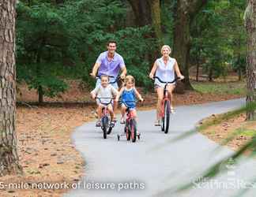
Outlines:
{"type": "MultiPolygon", "coordinates": [[[[70,81],[70,90],[57,99],[45,98],[46,102],[93,102],[89,90],[81,88],[77,81],[70,81]]],[[[174,95],[174,106],[199,104],[204,102],[237,99],[244,96],[244,82],[230,78],[228,81],[193,82],[197,91],[186,91],[184,95],[174,95]],[[216,91],[218,90],[218,91],[216,91]],[[233,91],[232,91],[233,90],[233,91]]],[[[139,88],[141,90],[141,88],[139,88]]],[[[19,86],[22,95],[19,102],[36,102],[36,91],[28,91],[24,84],[19,86]]],[[[155,108],[156,94],[141,90],[145,102],[138,110],[155,108]]],[[[67,183],[69,188],[83,175],[84,159],[73,147],[73,130],[86,121],[93,120],[95,106],[18,106],[17,107],[17,144],[22,176],[6,176],[0,179],[4,184],[29,183],[30,189],[13,189],[9,185],[1,190],[1,196],[60,196],[66,189],[44,189],[40,184],[67,183]],[[39,188],[34,188],[35,184],[39,188]]],[[[21,184],[18,184],[21,185],[21,184]]],[[[10,185],[13,186],[13,185],[10,185]]],[[[55,187],[58,186],[57,184],[55,187]]]]}

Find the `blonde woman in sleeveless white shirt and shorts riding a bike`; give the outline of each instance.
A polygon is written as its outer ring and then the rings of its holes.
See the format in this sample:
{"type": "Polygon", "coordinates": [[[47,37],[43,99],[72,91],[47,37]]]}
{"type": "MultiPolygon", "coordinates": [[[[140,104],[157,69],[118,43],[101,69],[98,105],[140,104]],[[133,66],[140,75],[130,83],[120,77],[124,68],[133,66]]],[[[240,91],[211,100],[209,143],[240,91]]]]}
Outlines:
{"type": "MultiPolygon", "coordinates": [[[[161,48],[161,54],[162,57],[156,59],[152,70],[149,74],[149,77],[151,79],[154,79],[154,75],[158,76],[161,80],[163,81],[172,81],[175,80],[175,73],[176,75],[183,80],[184,76],[180,73],[179,71],[179,66],[175,58],[171,58],[169,55],[171,54],[171,47],[168,45],[164,45],[161,48]]],[[[160,107],[161,107],[161,102],[164,99],[164,85],[163,83],[160,83],[159,80],[155,80],[155,89],[157,93],[157,106],[156,106],[156,126],[160,126],[160,107]]],[[[173,84],[168,84],[168,96],[170,100],[172,99],[172,91],[175,88],[175,83],[173,84]]],[[[173,113],[173,107],[171,105],[171,113],[173,113]]]]}

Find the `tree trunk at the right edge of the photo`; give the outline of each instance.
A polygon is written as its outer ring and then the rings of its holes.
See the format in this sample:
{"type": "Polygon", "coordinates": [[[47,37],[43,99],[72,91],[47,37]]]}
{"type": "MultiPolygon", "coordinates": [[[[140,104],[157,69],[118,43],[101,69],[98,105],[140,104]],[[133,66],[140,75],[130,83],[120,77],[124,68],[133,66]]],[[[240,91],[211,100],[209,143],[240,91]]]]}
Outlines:
{"type": "Polygon", "coordinates": [[[247,29],[247,121],[256,120],[256,2],[248,0],[245,12],[247,29]]]}

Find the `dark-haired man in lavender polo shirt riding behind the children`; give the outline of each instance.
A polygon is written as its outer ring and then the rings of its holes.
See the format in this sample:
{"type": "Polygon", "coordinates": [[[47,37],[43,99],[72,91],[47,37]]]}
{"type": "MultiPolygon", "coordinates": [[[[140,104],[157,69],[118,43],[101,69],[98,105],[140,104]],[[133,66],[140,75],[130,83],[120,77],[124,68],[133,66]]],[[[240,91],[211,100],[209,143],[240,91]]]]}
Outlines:
{"type": "MultiPolygon", "coordinates": [[[[126,77],[126,65],[123,61],[123,58],[120,54],[115,52],[116,50],[116,42],[109,41],[107,43],[107,51],[104,51],[100,54],[97,58],[95,65],[92,68],[92,77],[96,77],[98,72],[99,76],[107,75],[107,76],[114,76],[114,78],[110,78],[110,82],[116,80],[117,76],[119,76],[119,72],[121,71],[120,78],[123,80],[126,77]]],[[[100,79],[96,81],[96,87],[100,85],[100,79]]],[[[119,89],[117,82],[115,84],[111,84],[115,89],[119,89]]],[[[117,108],[117,103],[114,102],[114,112],[117,108]]],[[[116,118],[114,117],[114,121],[116,118]]]]}

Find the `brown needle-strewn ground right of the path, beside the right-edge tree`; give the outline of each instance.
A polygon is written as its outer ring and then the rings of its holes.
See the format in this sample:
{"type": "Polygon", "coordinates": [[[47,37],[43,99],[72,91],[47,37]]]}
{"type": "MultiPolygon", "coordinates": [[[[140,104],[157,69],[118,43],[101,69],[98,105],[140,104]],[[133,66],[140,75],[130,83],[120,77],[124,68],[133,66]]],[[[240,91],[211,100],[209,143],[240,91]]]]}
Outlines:
{"type": "MultiPolygon", "coordinates": [[[[205,118],[198,125],[199,131],[222,146],[238,151],[255,137],[256,121],[246,121],[246,113],[224,113],[205,118]]],[[[249,149],[244,154],[255,154],[249,149]]]]}

